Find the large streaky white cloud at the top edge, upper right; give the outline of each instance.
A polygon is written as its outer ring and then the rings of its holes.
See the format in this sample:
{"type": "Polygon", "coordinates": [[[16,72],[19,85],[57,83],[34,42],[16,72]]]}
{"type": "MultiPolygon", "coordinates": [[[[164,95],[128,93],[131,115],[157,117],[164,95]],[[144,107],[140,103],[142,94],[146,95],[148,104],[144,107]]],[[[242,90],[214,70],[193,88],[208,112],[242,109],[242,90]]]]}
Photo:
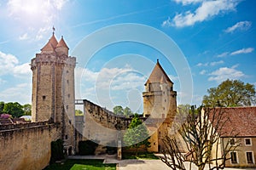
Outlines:
{"type": "MultiPolygon", "coordinates": [[[[200,1],[177,1],[177,2],[182,2],[183,4],[189,4],[189,3],[195,3],[195,2],[199,3],[200,1]]],[[[236,5],[238,3],[239,1],[231,1],[231,0],[201,1],[201,6],[199,8],[196,8],[195,12],[191,12],[189,10],[184,14],[176,14],[170,26],[176,26],[176,27],[194,26],[196,22],[209,20],[210,18],[218,14],[224,14],[229,11],[236,10],[236,5]]],[[[167,20],[166,20],[166,23],[167,23],[167,20]]]]}

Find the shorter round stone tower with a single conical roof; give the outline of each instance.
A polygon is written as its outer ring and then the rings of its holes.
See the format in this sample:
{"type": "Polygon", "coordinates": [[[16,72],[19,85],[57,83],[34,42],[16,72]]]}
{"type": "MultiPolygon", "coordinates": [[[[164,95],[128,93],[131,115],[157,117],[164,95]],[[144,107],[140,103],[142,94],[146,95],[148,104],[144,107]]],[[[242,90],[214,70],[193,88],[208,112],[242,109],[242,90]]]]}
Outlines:
{"type": "Polygon", "coordinates": [[[157,126],[156,133],[152,136],[157,148],[152,151],[160,151],[162,148],[161,136],[171,127],[177,111],[177,92],[173,91],[173,82],[166,75],[157,59],[154,70],[145,83],[143,92],[143,116],[155,119],[162,119],[162,123],[157,126]]]}

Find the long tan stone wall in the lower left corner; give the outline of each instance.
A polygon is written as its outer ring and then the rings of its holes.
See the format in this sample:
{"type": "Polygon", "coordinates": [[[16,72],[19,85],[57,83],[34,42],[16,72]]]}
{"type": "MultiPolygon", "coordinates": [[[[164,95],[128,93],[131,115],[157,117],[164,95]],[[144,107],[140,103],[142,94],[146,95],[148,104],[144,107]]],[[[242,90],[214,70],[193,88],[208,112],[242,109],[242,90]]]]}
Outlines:
{"type": "Polygon", "coordinates": [[[43,169],[49,164],[50,142],[61,137],[59,131],[49,122],[1,125],[0,169],[43,169]]]}

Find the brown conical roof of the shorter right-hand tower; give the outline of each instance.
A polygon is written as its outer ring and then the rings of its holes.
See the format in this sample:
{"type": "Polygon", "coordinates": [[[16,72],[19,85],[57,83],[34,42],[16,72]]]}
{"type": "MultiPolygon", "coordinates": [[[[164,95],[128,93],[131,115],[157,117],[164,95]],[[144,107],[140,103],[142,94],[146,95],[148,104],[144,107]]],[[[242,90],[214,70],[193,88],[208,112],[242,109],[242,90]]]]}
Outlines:
{"type": "Polygon", "coordinates": [[[164,69],[160,65],[159,59],[157,59],[157,62],[154,65],[154,69],[151,72],[146,84],[149,82],[160,82],[160,83],[171,82],[173,84],[171,79],[166,75],[166,71],[164,71],[164,69]]]}

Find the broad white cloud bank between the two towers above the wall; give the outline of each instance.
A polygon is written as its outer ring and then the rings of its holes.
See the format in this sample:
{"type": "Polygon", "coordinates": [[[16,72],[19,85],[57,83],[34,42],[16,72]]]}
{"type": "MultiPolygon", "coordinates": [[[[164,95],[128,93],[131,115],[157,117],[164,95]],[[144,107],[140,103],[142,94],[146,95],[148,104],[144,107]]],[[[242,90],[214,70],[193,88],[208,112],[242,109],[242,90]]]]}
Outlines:
{"type": "Polygon", "coordinates": [[[100,71],[79,67],[75,70],[75,79],[76,98],[89,99],[108,109],[121,105],[120,102],[128,105],[132,90],[142,93],[146,82],[146,77],[128,65],[124,68],[102,68],[100,71]]]}

